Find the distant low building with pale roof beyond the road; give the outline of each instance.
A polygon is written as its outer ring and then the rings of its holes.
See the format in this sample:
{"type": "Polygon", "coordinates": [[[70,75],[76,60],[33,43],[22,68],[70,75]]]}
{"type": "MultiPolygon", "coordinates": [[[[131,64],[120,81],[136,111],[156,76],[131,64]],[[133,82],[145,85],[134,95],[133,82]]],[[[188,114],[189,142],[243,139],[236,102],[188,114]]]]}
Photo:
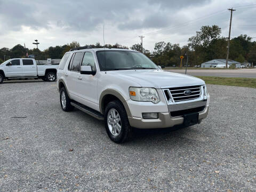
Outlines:
{"type": "MultiPolygon", "coordinates": [[[[241,63],[238,61],[228,60],[228,68],[230,66],[234,66],[236,68],[241,66],[241,63]]],[[[226,59],[213,59],[211,61],[207,61],[201,64],[201,68],[225,68],[226,67],[226,59]]]]}

